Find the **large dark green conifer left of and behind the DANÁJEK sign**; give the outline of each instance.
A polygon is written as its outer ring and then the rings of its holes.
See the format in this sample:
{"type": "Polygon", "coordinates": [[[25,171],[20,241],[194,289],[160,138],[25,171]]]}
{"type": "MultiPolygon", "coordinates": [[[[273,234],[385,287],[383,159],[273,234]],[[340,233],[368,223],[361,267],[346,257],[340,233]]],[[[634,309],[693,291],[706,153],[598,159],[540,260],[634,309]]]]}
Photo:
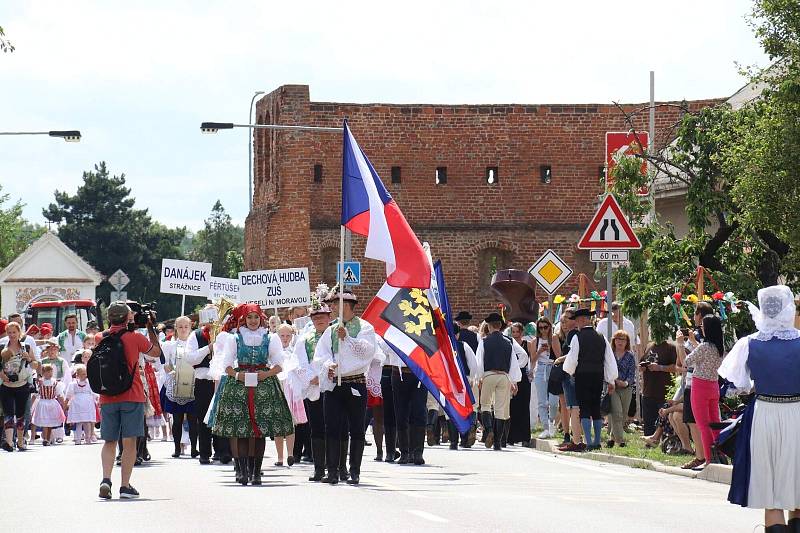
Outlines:
{"type": "MultiPolygon", "coordinates": [[[[176,316],[180,296],[159,292],[161,259],[177,258],[185,228],[170,229],[153,222],[147,209],[135,209],[125,186],[125,174],[111,175],[104,161],[83,173],[74,195],[55,191],[55,202],[42,211],[57,223],[58,236],[105,276],[122,269],[131,279],[128,298],[155,301],[162,317],[176,316]]],[[[110,299],[110,285],[98,295],[110,299]]]]}

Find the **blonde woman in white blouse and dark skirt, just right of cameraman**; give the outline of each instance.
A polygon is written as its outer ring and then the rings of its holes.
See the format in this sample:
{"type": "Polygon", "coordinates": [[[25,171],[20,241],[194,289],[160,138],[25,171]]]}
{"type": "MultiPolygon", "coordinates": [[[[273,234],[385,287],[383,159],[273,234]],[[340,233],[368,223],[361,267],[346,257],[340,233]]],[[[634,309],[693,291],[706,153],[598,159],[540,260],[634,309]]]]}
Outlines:
{"type": "Polygon", "coordinates": [[[172,340],[161,343],[166,379],[164,380],[164,386],[161,388],[159,399],[164,411],[172,415],[172,440],[175,445],[172,457],[175,458],[181,456],[184,416],[189,422],[189,442],[192,445],[192,458],[199,455],[197,451],[197,417],[194,414],[194,401],[175,396],[175,368],[187,355],[187,346],[191,333],[191,319],[187,316],[181,316],[175,319],[175,335],[172,340]]]}

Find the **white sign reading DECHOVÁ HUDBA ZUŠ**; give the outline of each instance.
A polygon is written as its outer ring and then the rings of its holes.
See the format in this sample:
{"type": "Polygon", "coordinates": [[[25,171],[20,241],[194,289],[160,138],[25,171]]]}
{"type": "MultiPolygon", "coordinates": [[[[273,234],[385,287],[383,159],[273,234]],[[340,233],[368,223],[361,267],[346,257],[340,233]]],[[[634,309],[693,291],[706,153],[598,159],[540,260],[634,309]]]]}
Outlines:
{"type": "Polygon", "coordinates": [[[239,302],[261,307],[311,305],[308,268],[239,272],[239,302]]]}

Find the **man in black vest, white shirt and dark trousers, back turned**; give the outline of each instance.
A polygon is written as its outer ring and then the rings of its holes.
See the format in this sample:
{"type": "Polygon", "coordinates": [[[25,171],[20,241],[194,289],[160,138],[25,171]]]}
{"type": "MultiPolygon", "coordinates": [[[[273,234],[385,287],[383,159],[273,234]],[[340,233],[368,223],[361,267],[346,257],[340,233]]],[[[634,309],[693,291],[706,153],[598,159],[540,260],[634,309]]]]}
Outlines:
{"type": "Polygon", "coordinates": [[[617,360],[611,345],[592,328],[593,313],[588,309],[578,309],[573,314],[578,333],[572,337],[564,360],[564,372],[575,376],[575,396],[587,450],[600,449],[600,431],[603,429],[600,401],[604,387],[609,394],[614,392],[614,380],[618,376],[617,360]],[[589,438],[592,427],[594,440],[589,438]]]}

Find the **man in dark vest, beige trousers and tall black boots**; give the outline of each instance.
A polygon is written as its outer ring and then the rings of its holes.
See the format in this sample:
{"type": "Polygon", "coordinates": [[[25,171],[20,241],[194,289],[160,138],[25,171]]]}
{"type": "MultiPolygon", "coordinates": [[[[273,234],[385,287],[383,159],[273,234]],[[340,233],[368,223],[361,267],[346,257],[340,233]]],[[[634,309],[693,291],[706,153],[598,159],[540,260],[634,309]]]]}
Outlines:
{"type": "Polygon", "coordinates": [[[528,364],[528,354],[514,339],[502,334],[505,323],[498,313],[490,313],[485,322],[489,335],[481,339],[475,355],[478,371],[483,375],[481,422],[486,433],[486,447],[501,450],[501,435],[510,417],[511,395],[517,392],[517,383],[522,379],[520,369],[528,364]]]}

